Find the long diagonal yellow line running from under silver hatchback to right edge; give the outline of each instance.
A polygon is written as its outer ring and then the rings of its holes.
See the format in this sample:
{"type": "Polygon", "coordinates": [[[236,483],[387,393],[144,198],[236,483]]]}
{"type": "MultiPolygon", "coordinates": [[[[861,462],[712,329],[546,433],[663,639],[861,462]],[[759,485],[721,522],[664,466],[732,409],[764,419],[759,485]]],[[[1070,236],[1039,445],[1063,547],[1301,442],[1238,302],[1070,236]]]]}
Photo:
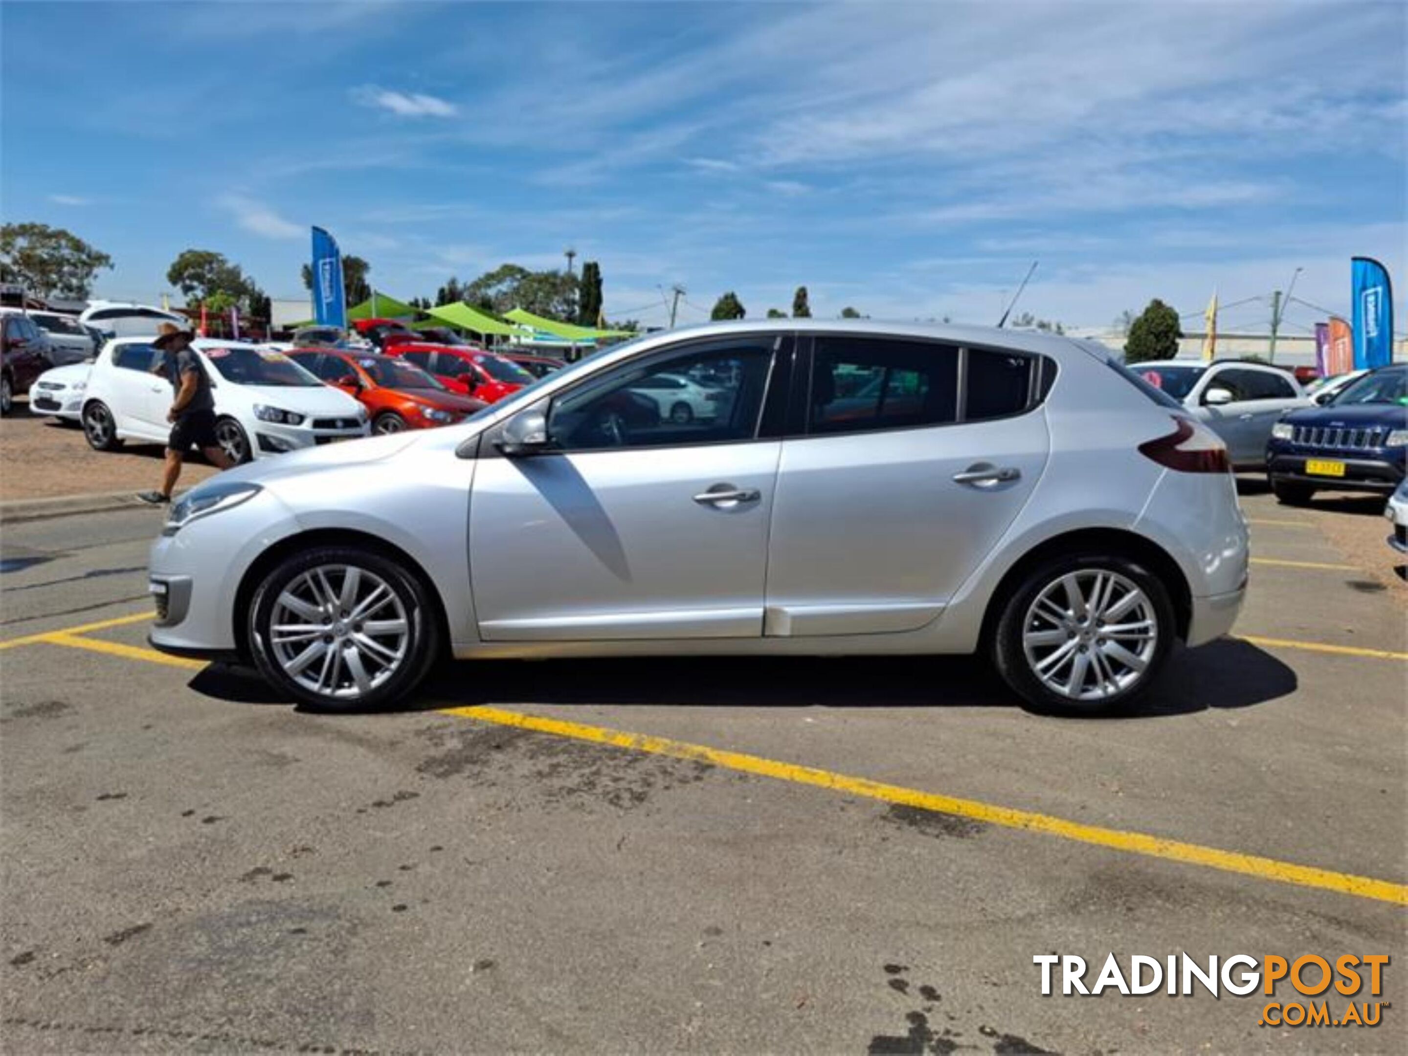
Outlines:
{"type": "Polygon", "coordinates": [[[1107,829],[1098,825],[1086,825],[1079,821],[1066,821],[1048,814],[1014,810],[1011,807],[997,807],[977,800],[960,800],[952,796],[925,793],[917,788],[904,788],[897,784],[883,784],[865,777],[848,777],[846,774],[818,770],[811,766],[797,766],[781,763],[773,759],[763,759],[741,752],[727,752],[704,745],[691,745],[683,741],[672,741],[663,736],[649,736],[645,734],[622,734],[615,729],[589,727],[580,722],[567,722],[541,715],[524,715],[517,711],[503,711],[487,705],[473,705],[463,708],[445,708],[442,714],[459,718],[493,722],[501,727],[517,727],[518,729],[532,729],[541,734],[572,738],[574,741],[589,741],[597,745],[611,745],[635,752],[672,756],[674,759],[689,759],[691,762],[711,763],[728,770],[758,774],[760,777],[774,777],[781,781],[796,784],[810,784],[818,788],[862,796],[883,803],[897,803],[905,807],[938,811],[941,814],[956,814],[974,821],[984,821],[990,825],[1025,829],[1028,832],[1042,832],[1049,836],[1076,841],[1079,843],[1094,843],[1112,850],[1124,850],[1132,855],[1160,857],[1184,865],[1219,869],[1228,873],[1242,873],[1262,880],[1276,880],[1300,887],[1316,887],[1340,894],[1352,894],[1360,898],[1376,898],[1385,903],[1408,905],[1408,884],[1397,884],[1390,880],[1376,880],[1366,876],[1352,876],[1336,873],[1329,869],[1315,869],[1314,866],[1298,866],[1291,862],[1278,862],[1259,855],[1240,855],[1233,850],[1219,850],[1197,843],[1183,843],[1176,839],[1163,839],[1143,832],[1124,832],[1121,829],[1107,829]]]}

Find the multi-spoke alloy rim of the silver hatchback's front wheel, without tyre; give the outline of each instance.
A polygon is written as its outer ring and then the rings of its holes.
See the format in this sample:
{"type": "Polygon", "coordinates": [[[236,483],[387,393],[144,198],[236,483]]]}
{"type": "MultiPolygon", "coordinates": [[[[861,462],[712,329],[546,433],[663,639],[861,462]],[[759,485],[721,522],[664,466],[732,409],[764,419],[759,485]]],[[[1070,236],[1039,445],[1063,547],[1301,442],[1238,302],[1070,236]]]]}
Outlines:
{"type": "Polygon", "coordinates": [[[283,673],[324,697],[358,700],[406,660],[411,621],[390,583],[355,565],[320,565],[273,603],[269,645],[283,673]]]}

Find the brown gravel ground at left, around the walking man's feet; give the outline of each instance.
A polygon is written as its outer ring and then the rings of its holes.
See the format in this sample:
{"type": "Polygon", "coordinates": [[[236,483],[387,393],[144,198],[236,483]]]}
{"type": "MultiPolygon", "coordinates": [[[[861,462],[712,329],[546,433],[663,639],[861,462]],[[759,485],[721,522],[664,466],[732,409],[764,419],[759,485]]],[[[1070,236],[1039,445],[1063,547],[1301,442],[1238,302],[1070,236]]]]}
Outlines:
{"type": "MultiPolygon", "coordinates": [[[[182,487],[215,472],[200,456],[186,465],[182,487]]],[[[93,451],[76,425],[30,414],[24,400],[0,420],[0,501],[56,498],[93,491],[145,491],[161,483],[162,448],[128,444],[120,452],[93,451]]]]}

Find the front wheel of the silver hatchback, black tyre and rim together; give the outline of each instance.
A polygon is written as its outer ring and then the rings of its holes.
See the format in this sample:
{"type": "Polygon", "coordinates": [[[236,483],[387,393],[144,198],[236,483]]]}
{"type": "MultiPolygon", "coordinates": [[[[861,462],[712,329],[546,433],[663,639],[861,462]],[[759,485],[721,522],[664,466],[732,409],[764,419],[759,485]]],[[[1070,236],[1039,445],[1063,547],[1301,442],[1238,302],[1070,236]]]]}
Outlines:
{"type": "Polygon", "coordinates": [[[439,655],[439,639],[420,579],[356,546],[284,559],[249,605],[259,673],[318,711],[380,708],[407,697],[439,655]]]}

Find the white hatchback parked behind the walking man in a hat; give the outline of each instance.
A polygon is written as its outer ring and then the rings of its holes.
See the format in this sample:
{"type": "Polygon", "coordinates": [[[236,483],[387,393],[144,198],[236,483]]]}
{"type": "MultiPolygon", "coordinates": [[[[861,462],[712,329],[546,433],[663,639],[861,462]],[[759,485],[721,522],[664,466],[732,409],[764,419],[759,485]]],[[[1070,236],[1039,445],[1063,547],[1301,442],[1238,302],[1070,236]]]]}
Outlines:
{"type": "MultiPolygon", "coordinates": [[[[325,386],[282,352],[237,341],[197,339],[215,397],[215,436],[235,462],[356,439],[370,431],[366,410],[325,386]]],[[[83,432],[97,451],[122,441],[165,444],[172,386],[149,338],[118,338],[103,348],[83,396],[83,432]]]]}

